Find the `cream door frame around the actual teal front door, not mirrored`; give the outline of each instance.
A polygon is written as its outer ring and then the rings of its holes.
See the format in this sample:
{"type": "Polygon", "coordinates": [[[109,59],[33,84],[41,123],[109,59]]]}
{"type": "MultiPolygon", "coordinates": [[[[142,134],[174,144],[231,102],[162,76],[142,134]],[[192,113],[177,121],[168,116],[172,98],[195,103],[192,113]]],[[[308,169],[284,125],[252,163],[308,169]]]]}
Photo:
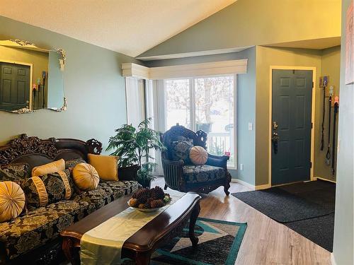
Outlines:
{"type": "MultiPolygon", "coordinates": [[[[314,87],[312,88],[312,106],[311,106],[311,163],[312,167],[310,168],[310,181],[315,180],[314,177],[314,112],[315,112],[315,102],[316,102],[316,67],[315,66],[276,66],[271,65],[269,68],[269,122],[268,122],[268,186],[272,186],[272,117],[273,117],[273,70],[310,70],[312,71],[312,82],[314,87]]],[[[287,183],[288,184],[288,183],[287,183]]]]}

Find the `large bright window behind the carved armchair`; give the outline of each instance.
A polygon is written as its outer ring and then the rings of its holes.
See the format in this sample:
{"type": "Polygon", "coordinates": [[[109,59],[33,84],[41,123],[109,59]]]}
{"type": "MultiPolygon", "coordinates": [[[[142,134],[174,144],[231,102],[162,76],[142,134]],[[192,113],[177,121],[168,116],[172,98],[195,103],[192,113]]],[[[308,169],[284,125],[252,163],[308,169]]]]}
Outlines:
{"type": "Polygon", "coordinates": [[[207,151],[236,167],[236,75],[166,79],[166,129],[176,123],[207,133],[207,151]]]}

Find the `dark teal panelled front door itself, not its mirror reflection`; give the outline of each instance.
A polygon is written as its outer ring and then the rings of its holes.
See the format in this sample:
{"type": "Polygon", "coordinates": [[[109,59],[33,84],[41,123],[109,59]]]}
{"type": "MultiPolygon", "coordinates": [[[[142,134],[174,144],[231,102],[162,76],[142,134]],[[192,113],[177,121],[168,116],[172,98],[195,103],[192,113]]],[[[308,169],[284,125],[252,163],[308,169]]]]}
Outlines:
{"type": "Polygon", "coordinates": [[[312,71],[273,70],[272,75],[272,184],[309,180],[312,71]]]}

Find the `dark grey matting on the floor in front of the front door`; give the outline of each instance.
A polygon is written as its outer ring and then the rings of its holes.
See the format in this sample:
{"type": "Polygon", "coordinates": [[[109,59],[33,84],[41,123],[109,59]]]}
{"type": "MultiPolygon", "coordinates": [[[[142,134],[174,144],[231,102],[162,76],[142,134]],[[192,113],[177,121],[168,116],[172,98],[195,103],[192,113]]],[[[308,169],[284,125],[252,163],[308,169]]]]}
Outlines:
{"type": "Polygon", "coordinates": [[[232,195],[332,251],[336,184],[318,180],[232,195]]]}

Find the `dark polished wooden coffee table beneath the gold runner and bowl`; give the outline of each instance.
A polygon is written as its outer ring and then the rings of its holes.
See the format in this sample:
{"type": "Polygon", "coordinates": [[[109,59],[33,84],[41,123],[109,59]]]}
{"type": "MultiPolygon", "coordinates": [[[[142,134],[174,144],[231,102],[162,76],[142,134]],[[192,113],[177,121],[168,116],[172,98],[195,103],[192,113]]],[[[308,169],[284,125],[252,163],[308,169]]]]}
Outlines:
{"type": "MultiPolygon", "coordinates": [[[[72,264],[80,264],[80,240],[84,233],[128,208],[127,201],[130,198],[131,195],[123,196],[79,220],[79,222],[70,225],[60,233],[63,237],[62,248],[64,254],[72,264]]],[[[200,211],[200,199],[201,197],[198,194],[188,192],[174,202],[124,242],[122,258],[133,259],[136,264],[149,264],[150,257],[155,249],[165,245],[173,237],[180,235],[188,220],[190,220],[190,241],[193,247],[196,247],[198,237],[194,235],[194,227],[200,211]]]]}

